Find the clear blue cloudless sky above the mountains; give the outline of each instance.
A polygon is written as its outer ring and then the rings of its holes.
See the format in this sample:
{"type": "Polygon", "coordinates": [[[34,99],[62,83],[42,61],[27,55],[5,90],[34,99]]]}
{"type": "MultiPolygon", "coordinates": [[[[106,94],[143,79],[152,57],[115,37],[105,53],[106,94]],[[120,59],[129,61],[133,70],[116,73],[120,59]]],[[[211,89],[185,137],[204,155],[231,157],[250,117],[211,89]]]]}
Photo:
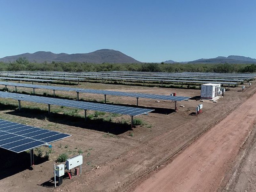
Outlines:
{"type": "Polygon", "coordinates": [[[256,58],[255,0],[1,0],[0,58],[121,51],[142,62],[256,58]]]}

